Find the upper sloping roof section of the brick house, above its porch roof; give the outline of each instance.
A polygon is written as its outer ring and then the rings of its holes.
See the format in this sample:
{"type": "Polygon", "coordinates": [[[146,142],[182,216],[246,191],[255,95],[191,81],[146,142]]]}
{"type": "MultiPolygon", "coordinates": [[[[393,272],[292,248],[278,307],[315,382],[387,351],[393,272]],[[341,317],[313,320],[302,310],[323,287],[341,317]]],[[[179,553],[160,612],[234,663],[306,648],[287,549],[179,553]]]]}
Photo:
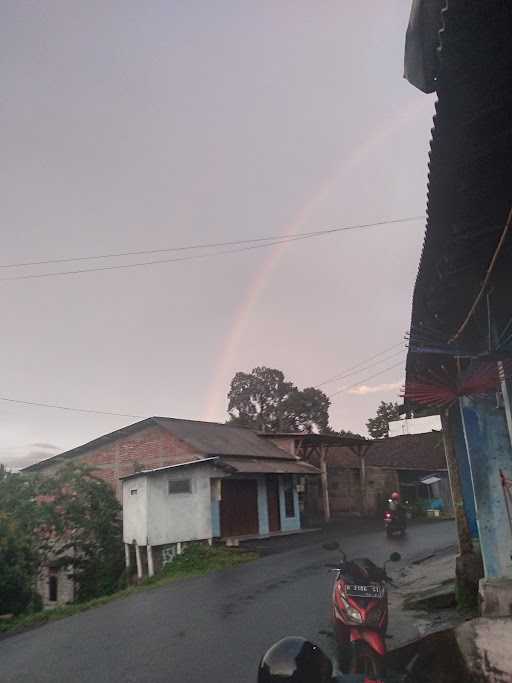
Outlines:
{"type": "Polygon", "coordinates": [[[290,454],[251,429],[218,422],[154,417],[154,422],[205,455],[289,459],[290,454]]]}

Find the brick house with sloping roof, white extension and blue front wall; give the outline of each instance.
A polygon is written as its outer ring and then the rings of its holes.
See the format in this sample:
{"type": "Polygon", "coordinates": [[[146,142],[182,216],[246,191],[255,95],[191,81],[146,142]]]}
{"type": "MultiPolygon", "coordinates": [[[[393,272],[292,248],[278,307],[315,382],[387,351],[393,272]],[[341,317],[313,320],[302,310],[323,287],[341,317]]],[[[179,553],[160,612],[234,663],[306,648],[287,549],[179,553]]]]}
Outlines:
{"type": "MultiPolygon", "coordinates": [[[[95,475],[112,486],[120,502],[134,510],[130,513],[131,522],[148,516],[146,508],[140,508],[139,514],[136,501],[142,504],[143,493],[151,486],[156,491],[156,483],[165,480],[163,488],[167,497],[161,499],[156,517],[167,519],[172,510],[174,519],[178,520],[180,506],[176,508],[178,498],[174,494],[181,494],[182,509],[189,511],[186,514],[190,518],[195,511],[203,510],[200,528],[203,535],[207,534],[204,540],[208,541],[299,530],[299,490],[307,475],[319,474],[314,465],[250,429],[166,417],[141,420],[30,465],[24,471],[52,476],[68,462],[93,467],[95,475]],[[171,480],[176,479],[181,491],[175,491],[171,485],[171,480]]],[[[146,507],[147,504],[146,498],[146,507]]],[[[161,526],[158,519],[155,525],[161,526]]],[[[138,529],[137,536],[140,536],[134,539],[135,545],[145,553],[141,560],[140,550],[137,551],[138,564],[141,561],[146,566],[157,564],[151,556],[150,529],[147,526],[141,529],[137,524],[132,524],[132,528],[138,529]]],[[[198,539],[199,532],[190,525],[187,528],[192,534],[189,539],[198,539]]],[[[126,542],[131,545],[132,536],[126,542]]],[[[127,549],[127,561],[129,552],[127,549]]],[[[59,593],[55,582],[60,577],[52,574],[46,578],[48,596],[60,602],[59,597],[55,599],[59,593]]]]}

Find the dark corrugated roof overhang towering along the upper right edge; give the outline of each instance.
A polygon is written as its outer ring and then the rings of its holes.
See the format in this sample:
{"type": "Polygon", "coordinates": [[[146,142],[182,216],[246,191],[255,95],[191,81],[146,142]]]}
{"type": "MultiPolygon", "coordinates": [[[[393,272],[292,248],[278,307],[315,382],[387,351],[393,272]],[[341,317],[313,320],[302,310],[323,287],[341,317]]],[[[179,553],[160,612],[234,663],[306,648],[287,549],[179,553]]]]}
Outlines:
{"type": "MultiPolygon", "coordinates": [[[[453,356],[489,351],[485,297],[456,343],[449,340],[476,300],[510,209],[512,5],[450,0],[442,23],[408,385],[440,366],[455,378],[453,356]]],[[[511,261],[508,239],[490,282],[498,332],[510,317],[511,261]]]]}

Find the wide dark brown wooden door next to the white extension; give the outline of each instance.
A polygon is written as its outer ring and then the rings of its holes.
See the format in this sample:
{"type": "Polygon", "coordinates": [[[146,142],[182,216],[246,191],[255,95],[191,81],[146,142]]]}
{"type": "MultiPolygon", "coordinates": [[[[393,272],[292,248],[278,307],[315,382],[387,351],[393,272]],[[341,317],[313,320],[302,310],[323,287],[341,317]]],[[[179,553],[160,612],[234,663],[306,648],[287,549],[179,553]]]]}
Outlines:
{"type": "Polygon", "coordinates": [[[258,533],[258,482],[256,480],[222,480],[220,524],[224,537],[258,533]]]}

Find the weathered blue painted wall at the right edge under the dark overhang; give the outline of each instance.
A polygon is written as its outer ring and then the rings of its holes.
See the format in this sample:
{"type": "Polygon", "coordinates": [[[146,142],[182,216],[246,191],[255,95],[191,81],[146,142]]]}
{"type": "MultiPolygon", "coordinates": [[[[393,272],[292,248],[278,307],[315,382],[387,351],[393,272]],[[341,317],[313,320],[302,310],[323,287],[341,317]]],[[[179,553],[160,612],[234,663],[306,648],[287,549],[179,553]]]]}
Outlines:
{"type": "Polygon", "coordinates": [[[505,412],[494,395],[463,397],[461,406],[485,576],[512,577],[512,533],[499,474],[502,469],[512,475],[505,412]]]}

